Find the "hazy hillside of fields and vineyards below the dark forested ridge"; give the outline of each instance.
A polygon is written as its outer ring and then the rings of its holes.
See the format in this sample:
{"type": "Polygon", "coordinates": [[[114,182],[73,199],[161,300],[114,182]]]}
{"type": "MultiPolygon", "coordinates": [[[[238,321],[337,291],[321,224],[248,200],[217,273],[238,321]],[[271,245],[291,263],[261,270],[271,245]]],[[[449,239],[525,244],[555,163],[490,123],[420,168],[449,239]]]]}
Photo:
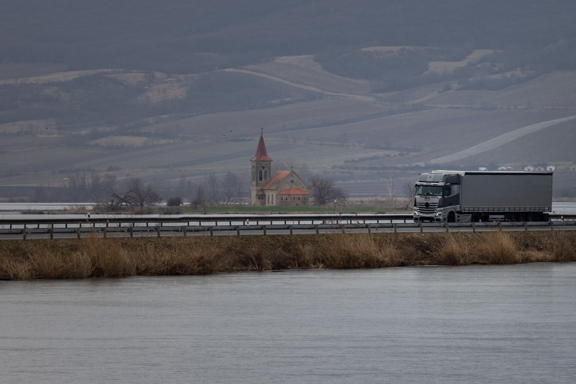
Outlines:
{"type": "MultiPolygon", "coordinates": [[[[26,70],[31,69],[22,73],[26,70]]],[[[369,81],[329,73],[310,55],[190,75],[51,70],[0,81],[0,95],[17,90],[36,106],[32,116],[17,102],[0,111],[5,117],[0,160],[7,165],[0,185],[62,185],[75,170],[120,180],[143,176],[162,185],[181,175],[241,173],[260,128],[274,164],[323,173],[355,196],[380,194],[387,169],[394,170],[400,185],[411,180],[410,172],[428,166],[474,169],[490,163],[517,169],[548,162],[564,169],[576,160],[574,120],[465,152],[509,132],[576,115],[576,71],[571,70],[494,91],[457,90],[457,81],[438,78],[380,94],[370,92],[369,81]],[[55,105],[92,120],[63,120],[55,105]],[[6,116],[16,119],[6,121],[6,116]]],[[[568,171],[559,177],[571,180],[568,171]]]]}

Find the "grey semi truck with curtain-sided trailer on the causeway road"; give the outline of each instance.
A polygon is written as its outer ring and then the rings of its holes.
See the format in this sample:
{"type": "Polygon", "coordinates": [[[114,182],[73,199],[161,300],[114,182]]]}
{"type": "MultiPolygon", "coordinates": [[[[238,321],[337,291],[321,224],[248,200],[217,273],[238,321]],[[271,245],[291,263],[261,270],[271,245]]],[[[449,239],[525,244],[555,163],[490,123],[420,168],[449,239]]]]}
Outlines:
{"type": "Polygon", "coordinates": [[[552,172],[420,173],[414,222],[548,221],[552,172]]]}

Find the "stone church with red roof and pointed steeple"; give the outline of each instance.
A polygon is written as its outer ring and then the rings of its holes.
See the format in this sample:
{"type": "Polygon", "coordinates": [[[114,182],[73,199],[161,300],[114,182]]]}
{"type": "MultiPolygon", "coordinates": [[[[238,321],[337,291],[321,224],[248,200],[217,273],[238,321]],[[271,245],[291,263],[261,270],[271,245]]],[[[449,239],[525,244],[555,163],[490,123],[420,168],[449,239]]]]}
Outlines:
{"type": "Polygon", "coordinates": [[[252,206],[306,206],[310,202],[308,185],[294,170],[279,170],[272,175],[272,159],[260,135],[252,165],[252,206]]]}

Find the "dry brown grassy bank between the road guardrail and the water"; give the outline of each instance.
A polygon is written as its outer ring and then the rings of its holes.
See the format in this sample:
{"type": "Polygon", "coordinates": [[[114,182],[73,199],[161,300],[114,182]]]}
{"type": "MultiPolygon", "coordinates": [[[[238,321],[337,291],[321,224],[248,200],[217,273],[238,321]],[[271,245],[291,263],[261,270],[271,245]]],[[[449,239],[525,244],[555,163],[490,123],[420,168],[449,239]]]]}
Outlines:
{"type": "Polygon", "coordinates": [[[0,277],[8,279],[537,261],[576,261],[576,234],[327,234],[0,242],[0,277]]]}

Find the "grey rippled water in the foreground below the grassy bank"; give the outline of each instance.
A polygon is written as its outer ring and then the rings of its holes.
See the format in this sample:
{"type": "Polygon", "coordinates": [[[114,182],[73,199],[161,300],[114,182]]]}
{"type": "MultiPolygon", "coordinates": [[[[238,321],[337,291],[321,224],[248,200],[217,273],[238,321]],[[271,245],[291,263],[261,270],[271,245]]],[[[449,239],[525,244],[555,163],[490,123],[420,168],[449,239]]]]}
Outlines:
{"type": "Polygon", "coordinates": [[[576,263],[0,282],[0,382],[573,383],[576,263]]]}

